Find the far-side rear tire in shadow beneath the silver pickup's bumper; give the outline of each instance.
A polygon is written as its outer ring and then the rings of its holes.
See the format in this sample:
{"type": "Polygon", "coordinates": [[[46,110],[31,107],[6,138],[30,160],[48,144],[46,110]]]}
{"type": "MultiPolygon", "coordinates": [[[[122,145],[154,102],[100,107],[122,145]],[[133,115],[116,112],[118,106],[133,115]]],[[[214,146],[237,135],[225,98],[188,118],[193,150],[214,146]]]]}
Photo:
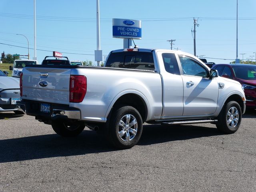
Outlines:
{"type": "Polygon", "coordinates": [[[69,123],[69,122],[61,122],[61,121],[53,121],[52,122],[52,129],[56,132],[56,134],[64,137],[74,137],[79,135],[85,128],[85,125],[76,122],[76,123],[69,123]]]}

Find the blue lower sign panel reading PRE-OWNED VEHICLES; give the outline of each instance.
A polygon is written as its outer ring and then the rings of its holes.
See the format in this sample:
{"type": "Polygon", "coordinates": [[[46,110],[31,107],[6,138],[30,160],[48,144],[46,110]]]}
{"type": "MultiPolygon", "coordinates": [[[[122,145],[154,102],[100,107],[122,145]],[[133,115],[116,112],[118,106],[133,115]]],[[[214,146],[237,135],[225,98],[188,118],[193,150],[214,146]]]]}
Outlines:
{"type": "Polygon", "coordinates": [[[113,26],[113,36],[119,38],[141,38],[141,28],[113,26]]]}

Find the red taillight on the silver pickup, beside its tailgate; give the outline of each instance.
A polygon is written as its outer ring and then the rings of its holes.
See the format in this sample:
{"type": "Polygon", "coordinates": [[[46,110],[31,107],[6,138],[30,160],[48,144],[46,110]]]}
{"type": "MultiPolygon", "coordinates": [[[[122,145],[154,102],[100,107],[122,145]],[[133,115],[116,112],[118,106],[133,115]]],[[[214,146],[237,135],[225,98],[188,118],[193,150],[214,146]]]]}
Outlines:
{"type": "Polygon", "coordinates": [[[82,75],[70,75],[69,102],[80,103],[84,99],[87,89],[87,80],[82,75]]]}

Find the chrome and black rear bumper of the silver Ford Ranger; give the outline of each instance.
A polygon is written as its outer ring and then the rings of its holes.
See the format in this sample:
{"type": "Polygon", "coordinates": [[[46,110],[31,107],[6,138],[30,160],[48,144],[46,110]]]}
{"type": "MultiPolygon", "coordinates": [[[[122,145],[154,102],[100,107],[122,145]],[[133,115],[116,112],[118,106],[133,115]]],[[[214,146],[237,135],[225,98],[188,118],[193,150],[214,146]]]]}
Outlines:
{"type": "Polygon", "coordinates": [[[67,105],[50,104],[51,109],[49,113],[40,111],[40,105],[42,102],[34,101],[18,101],[17,109],[24,112],[27,115],[36,116],[37,119],[42,120],[57,120],[57,119],[81,119],[81,112],[77,108],[72,108],[67,105]]]}

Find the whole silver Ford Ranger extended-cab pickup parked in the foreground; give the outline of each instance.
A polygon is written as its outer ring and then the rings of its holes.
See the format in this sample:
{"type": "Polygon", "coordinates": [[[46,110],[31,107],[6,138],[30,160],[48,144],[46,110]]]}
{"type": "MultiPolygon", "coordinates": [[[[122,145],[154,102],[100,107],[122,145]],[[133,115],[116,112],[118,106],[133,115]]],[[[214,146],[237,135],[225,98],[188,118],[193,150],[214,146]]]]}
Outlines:
{"type": "Polygon", "coordinates": [[[88,126],[118,148],[137,144],[143,122],[209,122],[234,133],[246,108],[239,82],[172,50],[115,50],[104,67],[28,66],[20,93],[18,109],[51,124],[57,134],[76,136],[88,126]]]}

